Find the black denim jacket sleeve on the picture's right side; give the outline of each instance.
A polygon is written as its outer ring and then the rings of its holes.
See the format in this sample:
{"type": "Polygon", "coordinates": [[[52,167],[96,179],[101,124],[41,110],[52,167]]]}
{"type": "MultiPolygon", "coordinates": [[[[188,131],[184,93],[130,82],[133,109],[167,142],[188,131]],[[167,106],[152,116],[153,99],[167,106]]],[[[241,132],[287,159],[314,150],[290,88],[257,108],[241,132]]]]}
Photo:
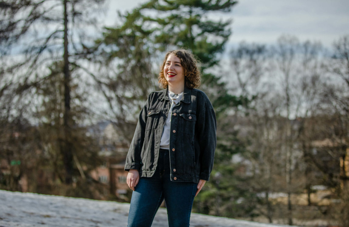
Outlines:
{"type": "Polygon", "coordinates": [[[199,113],[198,133],[200,144],[200,179],[208,181],[213,168],[214,155],[217,144],[216,130],[217,122],[216,115],[212,104],[206,98],[205,109],[199,113]]]}

